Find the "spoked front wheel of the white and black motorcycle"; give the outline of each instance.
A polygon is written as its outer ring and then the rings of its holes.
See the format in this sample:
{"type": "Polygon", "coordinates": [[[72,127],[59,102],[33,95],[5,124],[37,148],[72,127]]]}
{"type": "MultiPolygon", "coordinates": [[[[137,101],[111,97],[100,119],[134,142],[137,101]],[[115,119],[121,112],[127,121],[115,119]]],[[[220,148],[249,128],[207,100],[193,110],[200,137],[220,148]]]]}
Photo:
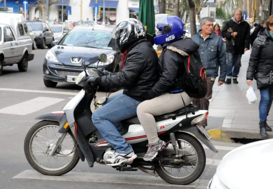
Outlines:
{"type": "Polygon", "coordinates": [[[40,121],[29,130],[25,137],[25,157],[36,171],[44,175],[66,174],[79,161],[77,143],[71,133],[66,133],[53,156],[49,156],[50,148],[60,134],[58,130],[58,122],[40,121]]]}

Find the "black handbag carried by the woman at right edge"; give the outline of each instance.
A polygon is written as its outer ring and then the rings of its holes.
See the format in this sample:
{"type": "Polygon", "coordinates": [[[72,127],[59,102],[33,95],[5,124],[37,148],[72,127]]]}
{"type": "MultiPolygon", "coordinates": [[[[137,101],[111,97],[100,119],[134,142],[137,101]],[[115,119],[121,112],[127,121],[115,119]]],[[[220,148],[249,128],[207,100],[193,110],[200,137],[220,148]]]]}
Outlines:
{"type": "Polygon", "coordinates": [[[272,69],[256,72],[254,78],[257,81],[258,89],[273,86],[272,77],[273,77],[272,69]]]}

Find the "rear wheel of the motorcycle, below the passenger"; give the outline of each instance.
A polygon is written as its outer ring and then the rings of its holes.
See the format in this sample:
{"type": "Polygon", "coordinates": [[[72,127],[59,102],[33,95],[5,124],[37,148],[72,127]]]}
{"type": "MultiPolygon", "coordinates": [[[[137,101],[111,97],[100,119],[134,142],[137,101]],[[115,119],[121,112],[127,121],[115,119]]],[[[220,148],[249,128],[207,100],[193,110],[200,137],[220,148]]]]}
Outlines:
{"type": "MultiPolygon", "coordinates": [[[[187,150],[190,154],[181,157],[185,162],[180,164],[159,161],[159,166],[155,166],[155,170],[164,181],[170,184],[190,184],[203,173],[206,165],[206,154],[201,143],[194,136],[177,133],[175,137],[177,148],[187,150]]],[[[165,142],[167,148],[173,148],[170,138],[165,139],[165,142]]],[[[164,158],[167,158],[167,156],[164,158]]]]}

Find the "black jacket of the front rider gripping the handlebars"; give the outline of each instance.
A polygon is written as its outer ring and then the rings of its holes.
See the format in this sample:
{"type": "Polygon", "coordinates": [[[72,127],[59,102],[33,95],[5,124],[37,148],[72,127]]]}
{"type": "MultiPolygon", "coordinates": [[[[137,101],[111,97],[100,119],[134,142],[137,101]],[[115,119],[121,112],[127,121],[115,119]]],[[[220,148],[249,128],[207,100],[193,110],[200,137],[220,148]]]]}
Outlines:
{"type": "Polygon", "coordinates": [[[98,78],[103,87],[122,87],[123,94],[143,101],[141,94],[150,90],[158,81],[158,57],[153,46],[146,39],[137,41],[127,52],[122,71],[98,78]]]}

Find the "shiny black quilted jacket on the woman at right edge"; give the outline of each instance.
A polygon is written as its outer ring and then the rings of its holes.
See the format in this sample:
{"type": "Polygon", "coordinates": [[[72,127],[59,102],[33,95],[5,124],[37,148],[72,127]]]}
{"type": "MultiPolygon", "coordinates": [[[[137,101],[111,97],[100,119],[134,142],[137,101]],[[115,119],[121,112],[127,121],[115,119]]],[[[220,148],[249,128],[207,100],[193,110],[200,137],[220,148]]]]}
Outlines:
{"type": "Polygon", "coordinates": [[[273,68],[273,39],[266,28],[263,28],[255,39],[248,63],[247,79],[253,80],[255,71],[273,68]]]}

